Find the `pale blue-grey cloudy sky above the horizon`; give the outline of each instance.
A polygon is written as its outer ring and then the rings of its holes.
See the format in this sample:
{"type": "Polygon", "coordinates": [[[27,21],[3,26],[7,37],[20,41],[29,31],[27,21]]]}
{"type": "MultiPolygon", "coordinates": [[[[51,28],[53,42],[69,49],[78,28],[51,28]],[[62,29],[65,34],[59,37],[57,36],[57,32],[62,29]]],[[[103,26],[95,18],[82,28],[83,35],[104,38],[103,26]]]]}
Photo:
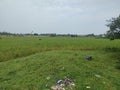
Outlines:
{"type": "Polygon", "coordinates": [[[0,32],[104,34],[120,0],[0,0],[0,32]]]}

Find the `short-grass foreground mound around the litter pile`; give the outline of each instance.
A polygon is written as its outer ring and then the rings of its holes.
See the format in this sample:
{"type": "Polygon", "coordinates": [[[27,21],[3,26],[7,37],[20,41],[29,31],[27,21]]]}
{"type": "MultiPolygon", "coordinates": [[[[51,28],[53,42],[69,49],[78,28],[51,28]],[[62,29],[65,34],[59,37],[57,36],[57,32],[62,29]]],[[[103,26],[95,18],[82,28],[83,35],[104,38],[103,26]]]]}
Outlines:
{"type": "Polygon", "coordinates": [[[1,62],[0,87],[5,90],[50,90],[58,80],[68,77],[74,81],[75,90],[87,90],[87,86],[91,90],[118,90],[119,71],[115,70],[115,61],[108,55],[99,51],[61,50],[1,62]],[[94,60],[86,60],[86,54],[94,56],[94,60]]]}

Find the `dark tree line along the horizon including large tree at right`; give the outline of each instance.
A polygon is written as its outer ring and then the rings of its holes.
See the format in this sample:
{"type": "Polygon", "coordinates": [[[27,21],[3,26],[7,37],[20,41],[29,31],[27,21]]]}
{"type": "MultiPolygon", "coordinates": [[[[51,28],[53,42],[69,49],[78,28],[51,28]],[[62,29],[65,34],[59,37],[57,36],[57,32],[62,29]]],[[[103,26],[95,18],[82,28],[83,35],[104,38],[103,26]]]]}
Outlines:
{"type": "Polygon", "coordinates": [[[9,33],[9,32],[0,32],[0,36],[49,36],[49,37],[98,37],[98,38],[109,38],[110,40],[120,39],[120,15],[118,17],[111,18],[107,20],[108,24],[106,25],[109,30],[106,34],[94,35],[94,34],[87,34],[87,35],[77,35],[77,34],[56,34],[56,33],[26,33],[26,34],[19,34],[19,33],[9,33]]]}

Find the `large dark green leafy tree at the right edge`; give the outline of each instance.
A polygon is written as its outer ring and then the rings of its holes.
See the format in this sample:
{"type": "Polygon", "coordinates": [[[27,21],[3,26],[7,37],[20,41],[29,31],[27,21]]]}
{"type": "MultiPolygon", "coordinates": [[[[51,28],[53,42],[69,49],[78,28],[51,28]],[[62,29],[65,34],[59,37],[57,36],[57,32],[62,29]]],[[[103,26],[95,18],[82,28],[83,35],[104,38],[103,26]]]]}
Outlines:
{"type": "Polygon", "coordinates": [[[107,37],[111,40],[120,39],[120,15],[116,18],[107,20],[109,30],[107,31],[107,37]]]}

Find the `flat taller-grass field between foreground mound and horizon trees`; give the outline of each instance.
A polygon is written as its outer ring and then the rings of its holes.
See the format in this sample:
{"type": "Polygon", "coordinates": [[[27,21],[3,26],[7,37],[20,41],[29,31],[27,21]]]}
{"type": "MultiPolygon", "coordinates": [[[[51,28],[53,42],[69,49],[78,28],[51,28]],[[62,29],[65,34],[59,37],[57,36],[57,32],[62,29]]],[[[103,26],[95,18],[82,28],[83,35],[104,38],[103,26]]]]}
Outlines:
{"type": "Polygon", "coordinates": [[[51,50],[120,49],[120,40],[70,37],[1,37],[0,61],[51,50]]]}

